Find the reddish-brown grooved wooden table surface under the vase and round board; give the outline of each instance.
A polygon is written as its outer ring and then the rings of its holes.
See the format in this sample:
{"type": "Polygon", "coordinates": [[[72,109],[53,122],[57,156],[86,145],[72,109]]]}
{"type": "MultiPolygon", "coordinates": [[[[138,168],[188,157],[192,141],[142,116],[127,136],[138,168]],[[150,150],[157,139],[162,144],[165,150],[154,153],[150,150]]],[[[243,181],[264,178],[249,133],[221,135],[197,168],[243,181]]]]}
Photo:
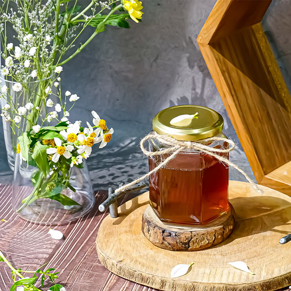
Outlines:
{"type": "MultiPolygon", "coordinates": [[[[49,262],[48,267],[61,272],[57,282],[67,291],[155,290],[110,273],[98,260],[95,239],[102,219],[108,214],[100,213],[98,205],[105,200],[106,191],[97,192],[95,207],[85,217],[65,226],[52,227],[63,232],[65,240],[62,241],[51,239],[49,226],[35,225],[17,217],[11,208],[11,191],[11,185],[0,184],[0,250],[15,267],[35,270],[49,262]]],[[[121,202],[129,198],[125,195],[121,202]]],[[[0,291],[9,290],[11,285],[10,269],[1,262],[0,291]]]]}

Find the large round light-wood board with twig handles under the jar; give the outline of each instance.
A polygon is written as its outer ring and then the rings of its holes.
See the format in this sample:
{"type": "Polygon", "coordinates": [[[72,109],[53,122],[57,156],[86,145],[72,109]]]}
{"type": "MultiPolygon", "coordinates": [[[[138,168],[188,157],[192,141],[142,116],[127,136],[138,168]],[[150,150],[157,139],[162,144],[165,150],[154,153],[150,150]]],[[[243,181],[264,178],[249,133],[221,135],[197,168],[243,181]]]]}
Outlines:
{"type": "Polygon", "coordinates": [[[222,243],[197,252],[173,252],[156,247],[141,231],[148,193],[119,207],[120,216],[102,221],[96,240],[100,262],[130,281],[165,291],[276,290],[291,285],[291,242],[279,239],[291,232],[291,197],[248,183],[230,181],[229,201],[235,227],[222,243]],[[251,275],[230,266],[242,260],[251,275]],[[171,278],[177,264],[194,262],[188,274],[171,278]]]}

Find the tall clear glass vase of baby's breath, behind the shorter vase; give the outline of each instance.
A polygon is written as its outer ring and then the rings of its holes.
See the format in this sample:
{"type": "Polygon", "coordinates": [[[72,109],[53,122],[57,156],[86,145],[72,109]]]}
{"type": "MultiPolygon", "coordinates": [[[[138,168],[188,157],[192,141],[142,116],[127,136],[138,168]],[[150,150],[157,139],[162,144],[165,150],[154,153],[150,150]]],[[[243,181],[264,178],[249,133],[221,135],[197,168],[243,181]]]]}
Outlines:
{"type": "Polygon", "coordinates": [[[35,123],[35,121],[40,118],[40,116],[46,115],[46,113],[42,110],[44,106],[41,92],[44,91],[44,88],[46,88],[48,85],[49,80],[50,78],[41,81],[27,82],[22,86],[22,89],[17,92],[13,89],[16,82],[5,80],[0,77],[2,109],[1,115],[4,131],[4,141],[8,164],[12,171],[14,170],[16,146],[18,144],[17,136],[20,135],[20,132],[31,129],[32,124],[35,123]],[[7,87],[6,90],[2,90],[4,86],[7,87]],[[16,107],[25,106],[28,102],[31,102],[35,107],[38,107],[37,113],[32,112],[29,114],[30,121],[22,118],[21,121],[17,124],[19,128],[11,124],[11,122],[7,122],[7,116],[9,116],[11,119],[15,119],[17,116],[17,112],[15,110],[16,107]],[[5,106],[10,108],[3,111],[5,106]]]}

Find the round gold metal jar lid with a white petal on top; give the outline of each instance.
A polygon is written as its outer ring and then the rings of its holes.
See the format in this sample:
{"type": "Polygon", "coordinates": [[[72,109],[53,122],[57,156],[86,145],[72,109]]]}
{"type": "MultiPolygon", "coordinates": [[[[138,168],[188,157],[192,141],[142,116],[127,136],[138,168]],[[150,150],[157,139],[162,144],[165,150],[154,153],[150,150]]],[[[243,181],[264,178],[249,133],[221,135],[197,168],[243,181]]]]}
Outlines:
{"type": "Polygon", "coordinates": [[[223,117],[208,107],[178,105],[166,108],[153,119],[153,129],[181,141],[212,137],[223,129],[223,117]]]}

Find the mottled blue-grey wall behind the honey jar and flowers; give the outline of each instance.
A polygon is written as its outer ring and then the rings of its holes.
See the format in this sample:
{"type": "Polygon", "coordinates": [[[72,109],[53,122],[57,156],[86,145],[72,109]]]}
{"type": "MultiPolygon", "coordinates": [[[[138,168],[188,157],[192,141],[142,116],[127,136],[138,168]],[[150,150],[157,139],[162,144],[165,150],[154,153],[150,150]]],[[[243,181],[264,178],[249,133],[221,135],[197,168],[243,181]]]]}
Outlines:
{"type": "MultiPolygon", "coordinates": [[[[81,97],[71,118],[85,122],[92,119],[90,112],[95,110],[115,130],[113,141],[101,150],[95,146],[88,160],[96,190],[127,182],[147,171],[139,141],[151,130],[156,113],[179,104],[203,105],[220,112],[225,120],[224,132],[238,144],[230,154],[231,161],[254,178],[196,43],[214,4],[215,0],[144,0],[142,23],[130,21],[129,30],[108,27],[64,66],[64,90],[81,97]]],[[[289,88],[290,4],[290,0],[274,0],[263,20],[289,88]]],[[[89,29],[80,42],[92,32],[89,29]]],[[[3,138],[0,152],[0,180],[7,182],[11,172],[3,138]]],[[[230,169],[230,179],[243,177],[230,169]]]]}

